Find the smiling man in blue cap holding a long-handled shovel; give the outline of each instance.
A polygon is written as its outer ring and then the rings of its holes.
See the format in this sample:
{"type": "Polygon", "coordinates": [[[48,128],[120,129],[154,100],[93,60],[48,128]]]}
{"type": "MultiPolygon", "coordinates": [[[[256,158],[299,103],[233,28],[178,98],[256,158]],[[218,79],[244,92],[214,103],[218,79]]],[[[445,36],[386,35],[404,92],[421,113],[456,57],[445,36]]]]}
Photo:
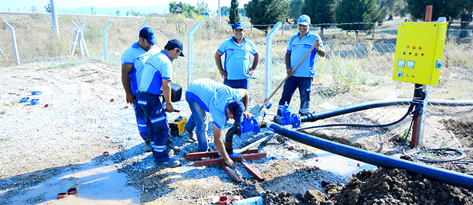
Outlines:
{"type": "Polygon", "coordinates": [[[294,34],[289,38],[286,52],[286,71],[289,78],[284,83],[282,96],[279,100],[278,115],[282,115],[281,111],[284,104],[291,103],[291,98],[295,89],[299,90],[300,94],[300,115],[307,115],[310,109],[311,101],[311,87],[312,79],[315,75],[315,58],[317,55],[324,57],[326,51],[322,38],[317,33],[309,31],[311,27],[311,18],[307,15],[302,15],[298,19],[299,33],[294,34]],[[292,72],[292,69],[298,62],[306,55],[306,53],[315,44],[315,49],[301,62],[298,68],[292,72]]]}

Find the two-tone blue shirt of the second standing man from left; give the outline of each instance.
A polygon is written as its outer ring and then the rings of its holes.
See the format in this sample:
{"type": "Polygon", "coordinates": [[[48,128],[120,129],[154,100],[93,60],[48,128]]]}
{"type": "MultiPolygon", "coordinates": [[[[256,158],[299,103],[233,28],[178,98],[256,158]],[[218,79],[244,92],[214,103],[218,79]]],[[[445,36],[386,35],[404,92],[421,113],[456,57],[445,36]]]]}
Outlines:
{"type": "Polygon", "coordinates": [[[156,55],[151,55],[143,68],[138,90],[150,94],[162,95],[162,80],[171,81],[172,74],[173,64],[166,51],[162,50],[156,55]]]}

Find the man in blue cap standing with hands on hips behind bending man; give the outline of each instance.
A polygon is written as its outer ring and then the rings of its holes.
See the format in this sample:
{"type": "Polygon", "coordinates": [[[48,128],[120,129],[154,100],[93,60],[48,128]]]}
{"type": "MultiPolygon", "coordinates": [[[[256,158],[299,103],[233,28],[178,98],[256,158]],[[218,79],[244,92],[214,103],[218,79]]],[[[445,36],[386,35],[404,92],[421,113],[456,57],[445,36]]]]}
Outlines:
{"type": "Polygon", "coordinates": [[[233,36],[224,40],[215,53],[215,63],[223,78],[223,84],[233,88],[244,88],[248,90],[250,76],[252,76],[259,62],[258,49],[254,42],[245,38],[245,26],[237,22],[233,25],[233,36]],[[225,53],[223,68],[221,56],[225,53]],[[250,56],[254,55],[253,64],[250,68],[250,56]]]}

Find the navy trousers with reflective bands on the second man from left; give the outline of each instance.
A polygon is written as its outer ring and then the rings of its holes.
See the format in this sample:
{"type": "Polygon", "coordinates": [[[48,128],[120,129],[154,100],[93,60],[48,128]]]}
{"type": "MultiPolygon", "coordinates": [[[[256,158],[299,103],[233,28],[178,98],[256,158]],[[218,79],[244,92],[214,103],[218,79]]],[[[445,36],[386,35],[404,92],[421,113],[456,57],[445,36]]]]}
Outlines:
{"type": "Polygon", "coordinates": [[[158,163],[169,161],[166,144],[171,133],[163,107],[164,100],[162,96],[138,91],[136,101],[145,113],[145,122],[148,129],[149,141],[153,148],[154,160],[158,163]]]}

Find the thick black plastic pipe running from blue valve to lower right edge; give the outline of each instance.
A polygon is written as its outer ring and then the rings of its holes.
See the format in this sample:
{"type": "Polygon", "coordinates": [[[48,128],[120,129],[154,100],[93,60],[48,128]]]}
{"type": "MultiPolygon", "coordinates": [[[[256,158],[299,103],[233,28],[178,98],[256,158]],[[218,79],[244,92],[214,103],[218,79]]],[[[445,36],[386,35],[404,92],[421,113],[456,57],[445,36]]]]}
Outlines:
{"type": "Polygon", "coordinates": [[[274,130],[275,133],[278,133],[289,139],[293,139],[294,141],[304,143],[308,146],[313,146],[314,148],[326,150],[327,152],[332,152],[333,154],[339,154],[341,156],[363,161],[378,167],[406,169],[408,172],[422,174],[426,178],[430,178],[432,180],[473,190],[473,176],[468,174],[452,172],[437,167],[430,167],[419,163],[413,163],[404,159],[397,159],[392,156],[378,154],[376,152],[369,152],[367,150],[345,146],[341,143],[328,141],[326,139],[321,139],[306,133],[294,131],[276,123],[271,123],[268,125],[269,128],[274,130]]]}

